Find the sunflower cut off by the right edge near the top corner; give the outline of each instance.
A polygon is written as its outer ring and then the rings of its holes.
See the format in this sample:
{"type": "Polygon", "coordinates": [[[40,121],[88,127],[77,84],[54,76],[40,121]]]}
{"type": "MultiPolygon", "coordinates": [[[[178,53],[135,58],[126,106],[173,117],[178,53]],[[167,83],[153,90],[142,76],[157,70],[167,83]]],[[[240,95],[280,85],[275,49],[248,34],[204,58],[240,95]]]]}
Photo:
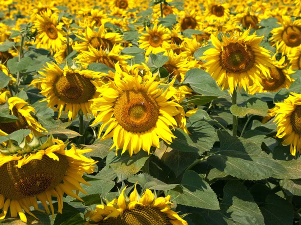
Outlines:
{"type": "Polygon", "coordinates": [[[277,52],[284,54],[294,53],[301,45],[301,19],[291,21],[290,16],[282,16],[282,26],[272,29],[272,46],[277,47],[277,52]]]}

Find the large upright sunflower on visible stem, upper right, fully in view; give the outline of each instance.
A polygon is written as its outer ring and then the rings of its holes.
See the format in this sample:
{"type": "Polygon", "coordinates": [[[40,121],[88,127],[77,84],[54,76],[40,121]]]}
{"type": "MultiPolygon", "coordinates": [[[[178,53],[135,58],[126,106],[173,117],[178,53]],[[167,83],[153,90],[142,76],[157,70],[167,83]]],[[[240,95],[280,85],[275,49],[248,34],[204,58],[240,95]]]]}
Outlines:
{"type": "Polygon", "coordinates": [[[215,48],[204,52],[203,65],[222,89],[230,87],[230,93],[243,87],[247,90],[252,82],[259,83],[259,78],[270,77],[269,67],[273,67],[269,51],[259,46],[264,36],[249,35],[250,28],[243,33],[230,37],[222,36],[221,42],[214,34],[211,41],[215,48]]]}

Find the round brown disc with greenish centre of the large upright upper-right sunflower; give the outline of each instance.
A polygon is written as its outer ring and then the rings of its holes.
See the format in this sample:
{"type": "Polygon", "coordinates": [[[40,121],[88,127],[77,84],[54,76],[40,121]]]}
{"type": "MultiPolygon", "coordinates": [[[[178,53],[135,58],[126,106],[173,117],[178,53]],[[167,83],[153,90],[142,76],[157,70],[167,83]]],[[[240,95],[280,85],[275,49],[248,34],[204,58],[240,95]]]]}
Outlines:
{"type": "Polygon", "coordinates": [[[254,54],[249,45],[230,43],[224,46],[224,51],[220,54],[220,63],[227,72],[245,72],[253,66],[254,54]]]}

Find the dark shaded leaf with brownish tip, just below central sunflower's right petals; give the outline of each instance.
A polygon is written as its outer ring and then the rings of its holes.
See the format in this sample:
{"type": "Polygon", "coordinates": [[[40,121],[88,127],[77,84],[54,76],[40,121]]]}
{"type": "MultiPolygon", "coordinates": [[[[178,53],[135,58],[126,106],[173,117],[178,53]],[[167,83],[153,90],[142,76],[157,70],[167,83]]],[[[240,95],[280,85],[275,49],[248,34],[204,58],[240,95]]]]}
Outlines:
{"type": "Polygon", "coordinates": [[[173,170],[178,177],[189,165],[191,165],[199,154],[197,152],[178,151],[176,149],[168,149],[161,160],[173,170]]]}

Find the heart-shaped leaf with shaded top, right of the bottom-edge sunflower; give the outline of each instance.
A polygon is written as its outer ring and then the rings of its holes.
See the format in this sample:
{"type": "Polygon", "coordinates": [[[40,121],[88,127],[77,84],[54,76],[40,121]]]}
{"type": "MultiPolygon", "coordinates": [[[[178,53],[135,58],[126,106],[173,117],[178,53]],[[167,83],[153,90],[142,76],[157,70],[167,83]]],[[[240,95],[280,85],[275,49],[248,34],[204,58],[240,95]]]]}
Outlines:
{"type": "Polygon", "coordinates": [[[209,184],[193,170],[186,171],[181,181],[181,188],[167,191],[174,201],[188,206],[219,209],[216,193],[209,184]]]}

